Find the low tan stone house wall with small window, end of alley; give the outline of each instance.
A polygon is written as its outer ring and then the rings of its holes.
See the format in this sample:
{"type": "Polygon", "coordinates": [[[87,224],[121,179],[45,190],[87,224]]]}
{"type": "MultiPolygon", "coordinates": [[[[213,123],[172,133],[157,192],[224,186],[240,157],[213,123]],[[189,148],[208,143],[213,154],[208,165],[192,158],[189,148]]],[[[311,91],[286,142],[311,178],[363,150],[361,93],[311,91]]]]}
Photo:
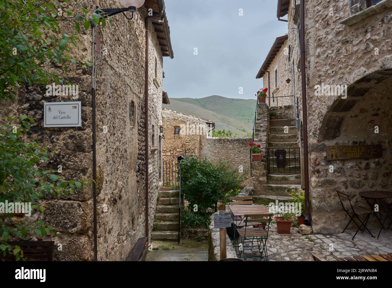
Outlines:
{"type": "Polygon", "coordinates": [[[171,110],[162,110],[162,126],[165,139],[162,140],[162,159],[177,160],[178,155],[200,157],[200,147],[207,140],[206,120],[171,110]],[[194,125],[195,130],[192,129],[194,125]],[[180,127],[180,134],[174,134],[174,127],[180,127]],[[201,135],[200,135],[201,134],[201,135]]]}

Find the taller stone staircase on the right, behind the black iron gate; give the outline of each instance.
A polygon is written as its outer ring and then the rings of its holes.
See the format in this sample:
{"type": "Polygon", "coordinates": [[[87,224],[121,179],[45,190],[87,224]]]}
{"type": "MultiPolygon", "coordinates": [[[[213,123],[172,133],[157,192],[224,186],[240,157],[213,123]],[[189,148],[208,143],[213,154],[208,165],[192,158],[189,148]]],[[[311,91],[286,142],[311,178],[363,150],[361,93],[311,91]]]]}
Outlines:
{"type": "MultiPolygon", "coordinates": [[[[277,112],[276,120],[269,121],[269,148],[285,148],[286,167],[277,168],[276,158],[270,155],[270,174],[267,173],[267,184],[263,185],[262,195],[254,195],[256,200],[269,202],[286,202],[291,199],[287,196],[292,189],[298,191],[301,188],[301,174],[299,166],[299,154],[292,154],[291,148],[299,148],[296,119],[294,118],[294,107],[292,105],[270,107],[271,111],[277,112]],[[275,161],[275,163],[273,163],[275,161]],[[291,168],[290,168],[290,167],[291,168]],[[273,172],[274,171],[274,172],[273,172]],[[287,173],[287,172],[298,173],[287,173]]],[[[297,150],[298,152],[298,150],[297,150]]]]}

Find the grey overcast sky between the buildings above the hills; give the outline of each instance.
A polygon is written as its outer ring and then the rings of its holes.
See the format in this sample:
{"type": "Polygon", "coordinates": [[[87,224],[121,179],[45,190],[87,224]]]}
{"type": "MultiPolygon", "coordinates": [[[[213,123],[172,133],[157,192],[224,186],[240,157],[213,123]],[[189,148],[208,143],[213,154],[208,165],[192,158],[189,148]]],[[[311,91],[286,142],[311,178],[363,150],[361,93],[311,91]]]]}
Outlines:
{"type": "Polygon", "coordinates": [[[275,38],[287,33],[287,23],[276,18],[277,2],[165,0],[174,51],[174,59],[163,58],[169,98],[254,98],[262,87],[257,72],[275,38]]]}

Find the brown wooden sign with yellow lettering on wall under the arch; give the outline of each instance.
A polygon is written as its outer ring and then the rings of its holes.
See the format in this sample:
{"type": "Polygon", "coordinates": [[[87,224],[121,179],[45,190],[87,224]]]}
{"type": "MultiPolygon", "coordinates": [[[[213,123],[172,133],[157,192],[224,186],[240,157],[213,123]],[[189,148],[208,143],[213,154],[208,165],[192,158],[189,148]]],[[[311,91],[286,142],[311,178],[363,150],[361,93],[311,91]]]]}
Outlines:
{"type": "Polygon", "coordinates": [[[327,146],[327,160],[381,158],[383,149],[377,145],[331,145],[327,146]]]}

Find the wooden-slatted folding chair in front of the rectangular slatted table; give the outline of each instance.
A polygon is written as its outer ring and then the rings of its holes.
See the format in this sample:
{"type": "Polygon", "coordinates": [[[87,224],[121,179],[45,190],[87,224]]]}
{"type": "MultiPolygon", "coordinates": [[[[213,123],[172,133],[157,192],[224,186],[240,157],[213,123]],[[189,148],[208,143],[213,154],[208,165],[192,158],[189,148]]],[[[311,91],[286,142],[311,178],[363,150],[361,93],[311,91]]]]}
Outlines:
{"type": "Polygon", "coordinates": [[[265,217],[265,214],[248,214],[245,215],[240,223],[236,223],[236,226],[238,227],[236,230],[239,237],[234,237],[234,246],[237,248],[236,250],[239,258],[243,258],[244,260],[245,258],[264,258],[268,261],[266,245],[271,215],[265,218],[257,217],[265,217]],[[255,225],[260,225],[260,223],[263,223],[264,228],[254,228],[255,225]],[[245,251],[254,249],[258,249],[260,256],[245,255],[245,251]]]}

